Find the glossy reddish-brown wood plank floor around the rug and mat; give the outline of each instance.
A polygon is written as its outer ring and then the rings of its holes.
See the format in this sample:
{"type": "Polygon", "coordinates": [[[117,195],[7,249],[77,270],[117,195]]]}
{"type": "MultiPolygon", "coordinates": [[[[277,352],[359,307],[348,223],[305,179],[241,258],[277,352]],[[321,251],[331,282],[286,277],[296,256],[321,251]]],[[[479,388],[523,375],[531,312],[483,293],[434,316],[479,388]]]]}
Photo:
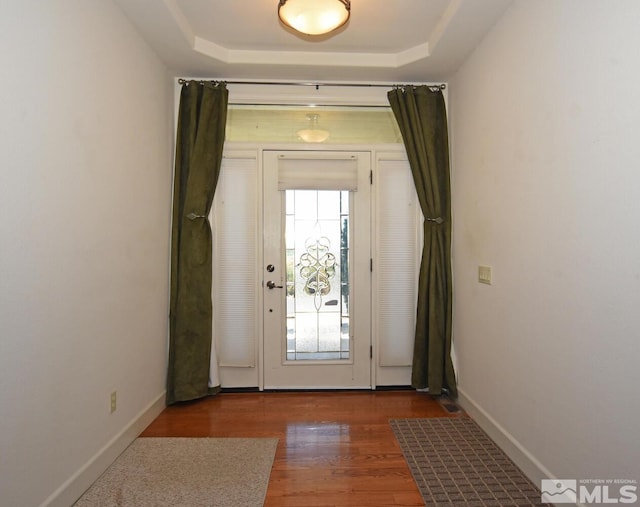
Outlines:
{"type": "Polygon", "coordinates": [[[265,506],[424,505],[389,425],[448,417],[415,391],[223,393],[168,407],[145,437],[277,437],[265,506]]]}

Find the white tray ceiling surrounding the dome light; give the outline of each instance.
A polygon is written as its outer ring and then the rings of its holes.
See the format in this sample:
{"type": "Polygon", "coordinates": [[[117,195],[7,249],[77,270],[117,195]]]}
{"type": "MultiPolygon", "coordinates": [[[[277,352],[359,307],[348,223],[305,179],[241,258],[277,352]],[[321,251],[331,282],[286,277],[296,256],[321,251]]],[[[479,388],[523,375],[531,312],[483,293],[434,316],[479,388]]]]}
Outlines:
{"type": "Polygon", "coordinates": [[[318,82],[446,81],[512,0],[351,0],[341,29],[312,39],[278,0],[116,0],[181,77],[318,82]]]}

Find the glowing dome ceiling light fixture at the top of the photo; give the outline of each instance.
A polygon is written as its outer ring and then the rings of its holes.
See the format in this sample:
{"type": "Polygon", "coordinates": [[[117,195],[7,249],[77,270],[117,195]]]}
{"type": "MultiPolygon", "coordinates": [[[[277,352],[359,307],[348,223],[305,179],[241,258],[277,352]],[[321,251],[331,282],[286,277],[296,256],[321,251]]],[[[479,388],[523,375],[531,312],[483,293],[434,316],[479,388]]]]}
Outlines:
{"type": "Polygon", "coordinates": [[[350,0],[280,0],[278,17],[307,35],[322,35],[340,28],[351,14],[350,0]]]}

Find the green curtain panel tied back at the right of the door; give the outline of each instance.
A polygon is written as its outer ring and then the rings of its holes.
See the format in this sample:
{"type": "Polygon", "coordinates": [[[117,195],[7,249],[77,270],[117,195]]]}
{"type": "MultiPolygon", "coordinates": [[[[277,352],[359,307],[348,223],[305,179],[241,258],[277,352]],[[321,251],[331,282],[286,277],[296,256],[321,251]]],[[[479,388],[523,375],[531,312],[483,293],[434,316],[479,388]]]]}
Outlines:
{"type": "Polygon", "coordinates": [[[444,96],[439,87],[407,86],[388,93],[407,150],[424,220],[424,249],[411,384],[457,397],[451,361],[451,188],[444,96]]]}

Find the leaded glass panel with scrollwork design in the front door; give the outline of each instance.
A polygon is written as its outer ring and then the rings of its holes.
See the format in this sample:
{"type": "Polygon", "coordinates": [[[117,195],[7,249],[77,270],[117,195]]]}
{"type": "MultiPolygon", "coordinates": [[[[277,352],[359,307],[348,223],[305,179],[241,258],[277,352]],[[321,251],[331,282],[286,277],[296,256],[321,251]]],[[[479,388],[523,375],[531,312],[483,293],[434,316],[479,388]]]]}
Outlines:
{"type": "Polygon", "coordinates": [[[348,360],[349,192],[286,190],[287,360],[348,360]]]}

